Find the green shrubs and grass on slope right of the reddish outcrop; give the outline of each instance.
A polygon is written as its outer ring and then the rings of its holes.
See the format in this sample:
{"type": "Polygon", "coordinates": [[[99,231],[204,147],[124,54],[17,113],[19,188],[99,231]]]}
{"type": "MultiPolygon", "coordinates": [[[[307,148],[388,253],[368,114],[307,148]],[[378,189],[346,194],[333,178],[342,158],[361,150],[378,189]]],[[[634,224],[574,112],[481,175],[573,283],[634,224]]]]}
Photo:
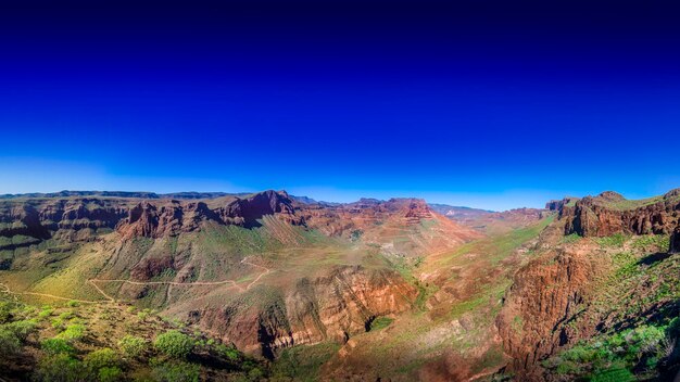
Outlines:
{"type": "Polygon", "coordinates": [[[633,381],[657,379],[680,361],[680,318],[672,306],[680,298],[680,258],[664,254],[667,235],[600,238],[600,245],[627,249],[610,255],[613,270],[600,280],[589,310],[570,327],[587,326],[606,317],[629,329],[584,340],[544,361],[563,379],[633,381]],[[659,253],[660,252],[660,253],[659,253]],[[624,293],[621,293],[624,292],[624,293]],[[654,309],[653,319],[647,319],[654,309]],[[593,321],[594,319],[594,321],[593,321]]]}

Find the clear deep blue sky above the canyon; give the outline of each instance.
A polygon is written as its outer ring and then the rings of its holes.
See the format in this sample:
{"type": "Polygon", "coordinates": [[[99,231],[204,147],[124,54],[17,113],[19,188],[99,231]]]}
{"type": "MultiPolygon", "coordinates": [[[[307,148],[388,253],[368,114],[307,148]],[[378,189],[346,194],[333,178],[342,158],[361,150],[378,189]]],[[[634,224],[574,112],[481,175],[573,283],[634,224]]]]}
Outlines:
{"type": "Polygon", "coordinates": [[[46,4],[0,5],[0,193],[505,209],[680,187],[680,24],[659,3],[46,4]]]}

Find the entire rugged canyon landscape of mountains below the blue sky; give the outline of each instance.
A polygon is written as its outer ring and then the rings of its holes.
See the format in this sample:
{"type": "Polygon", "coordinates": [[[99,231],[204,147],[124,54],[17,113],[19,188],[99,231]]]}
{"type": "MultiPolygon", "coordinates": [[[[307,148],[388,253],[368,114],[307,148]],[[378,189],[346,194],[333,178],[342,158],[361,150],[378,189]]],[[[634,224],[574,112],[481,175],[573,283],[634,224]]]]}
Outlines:
{"type": "Polygon", "coordinates": [[[0,374],[672,379],[679,221],[680,190],[502,213],[274,190],[4,198],[0,374]],[[126,335],[146,344],[133,360],[126,335]],[[128,360],[92,369],[106,348],[128,360]]]}

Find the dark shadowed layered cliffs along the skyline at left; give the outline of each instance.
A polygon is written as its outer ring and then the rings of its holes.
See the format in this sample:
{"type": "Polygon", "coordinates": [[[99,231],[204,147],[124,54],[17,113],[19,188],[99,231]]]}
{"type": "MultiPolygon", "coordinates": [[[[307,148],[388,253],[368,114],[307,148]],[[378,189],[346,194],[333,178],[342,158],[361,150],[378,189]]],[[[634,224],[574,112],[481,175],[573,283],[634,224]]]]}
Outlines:
{"type": "Polygon", "coordinates": [[[276,215],[293,225],[304,224],[304,219],[295,214],[288,194],[276,191],[256,193],[247,199],[225,196],[226,205],[218,208],[211,208],[202,201],[192,201],[194,193],[185,198],[187,201],[144,193],[64,191],[48,195],[53,198],[5,198],[0,201],[0,237],[25,235],[46,240],[56,234],[78,240],[87,239],[100,229],[115,229],[125,239],[162,238],[194,231],[205,221],[251,228],[257,226],[257,220],[265,215],[276,215]],[[76,198],[80,194],[96,196],[76,198]],[[147,195],[150,199],[117,198],[129,195],[147,195]]]}

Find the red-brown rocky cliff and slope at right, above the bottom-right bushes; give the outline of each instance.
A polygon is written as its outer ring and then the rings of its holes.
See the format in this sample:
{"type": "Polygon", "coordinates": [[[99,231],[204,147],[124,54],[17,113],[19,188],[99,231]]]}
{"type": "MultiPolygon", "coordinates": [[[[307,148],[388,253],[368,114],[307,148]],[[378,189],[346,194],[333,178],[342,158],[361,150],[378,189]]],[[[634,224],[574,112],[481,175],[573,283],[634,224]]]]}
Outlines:
{"type": "Polygon", "coordinates": [[[555,205],[559,220],[551,229],[595,239],[539,242],[536,258],[515,273],[496,328],[508,369],[522,380],[545,380],[541,361],[561,348],[678,309],[677,270],[650,265],[672,260],[680,247],[679,190],[643,201],[605,192],[555,205]]]}

